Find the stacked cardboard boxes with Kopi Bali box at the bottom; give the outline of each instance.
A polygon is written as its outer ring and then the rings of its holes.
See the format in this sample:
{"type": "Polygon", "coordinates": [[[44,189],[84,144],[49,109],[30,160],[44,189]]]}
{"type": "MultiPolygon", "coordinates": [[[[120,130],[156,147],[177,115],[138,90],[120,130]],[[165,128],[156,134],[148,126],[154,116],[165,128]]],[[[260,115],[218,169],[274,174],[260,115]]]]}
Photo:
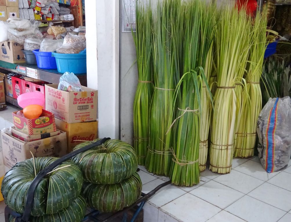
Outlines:
{"type": "Polygon", "coordinates": [[[15,163],[34,157],[67,154],[66,133],[56,128],[54,114],[42,110],[38,118],[27,119],[23,111],[12,113],[14,126],[1,132],[3,163],[11,168],[15,163]]]}

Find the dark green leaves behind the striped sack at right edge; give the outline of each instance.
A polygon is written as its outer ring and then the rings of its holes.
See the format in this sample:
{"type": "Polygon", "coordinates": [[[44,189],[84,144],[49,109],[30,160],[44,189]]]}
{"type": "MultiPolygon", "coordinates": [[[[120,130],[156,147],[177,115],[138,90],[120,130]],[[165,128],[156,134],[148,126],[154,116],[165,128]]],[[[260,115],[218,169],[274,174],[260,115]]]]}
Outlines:
{"type": "Polygon", "coordinates": [[[267,60],[262,73],[261,90],[263,105],[269,98],[291,96],[291,70],[284,60],[275,56],[267,60]]]}

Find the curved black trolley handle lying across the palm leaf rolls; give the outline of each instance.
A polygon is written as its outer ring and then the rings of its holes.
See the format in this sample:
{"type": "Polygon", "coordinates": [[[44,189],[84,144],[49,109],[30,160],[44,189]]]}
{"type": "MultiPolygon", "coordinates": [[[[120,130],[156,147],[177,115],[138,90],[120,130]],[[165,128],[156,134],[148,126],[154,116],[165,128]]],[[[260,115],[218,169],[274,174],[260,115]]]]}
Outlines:
{"type": "Polygon", "coordinates": [[[31,208],[33,206],[35,189],[38,186],[38,184],[40,183],[40,181],[42,180],[42,178],[44,178],[45,175],[47,175],[47,173],[51,172],[55,167],[57,167],[58,165],[60,165],[64,161],[71,159],[72,157],[74,157],[74,156],[76,156],[84,151],[87,151],[88,149],[100,146],[104,142],[106,142],[107,140],[110,140],[110,138],[103,138],[102,140],[98,140],[90,145],[82,147],[81,149],[77,149],[77,150],[59,158],[58,160],[54,161],[51,165],[49,165],[48,167],[46,167],[45,169],[40,171],[37,174],[37,176],[33,179],[32,183],[29,186],[28,191],[26,193],[27,199],[26,199],[26,202],[24,205],[25,206],[24,213],[21,215],[21,214],[16,213],[15,211],[11,210],[9,207],[6,207],[6,209],[5,209],[5,222],[9,221],[9,215],[14,216],[16,218],[17,222],[28,222],[31,208]]]}

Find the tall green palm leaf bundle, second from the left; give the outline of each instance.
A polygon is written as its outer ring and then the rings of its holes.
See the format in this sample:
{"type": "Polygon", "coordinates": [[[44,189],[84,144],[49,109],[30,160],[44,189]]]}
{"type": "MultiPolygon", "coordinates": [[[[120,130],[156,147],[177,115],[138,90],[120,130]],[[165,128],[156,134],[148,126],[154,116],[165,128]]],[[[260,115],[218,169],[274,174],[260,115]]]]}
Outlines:
{"type": "MultiPolygon", "coordinates": [[[[153,64],[155,90],[150,108],[149,147],[145,167],[157,175],[170,175],[173,146],[174,91],[179,80],[177,44],[173,41],[180,0],[158,1],[153,22],[153,64]]],[[[177,31],[176,31],[177,32],[177,31]]]]}

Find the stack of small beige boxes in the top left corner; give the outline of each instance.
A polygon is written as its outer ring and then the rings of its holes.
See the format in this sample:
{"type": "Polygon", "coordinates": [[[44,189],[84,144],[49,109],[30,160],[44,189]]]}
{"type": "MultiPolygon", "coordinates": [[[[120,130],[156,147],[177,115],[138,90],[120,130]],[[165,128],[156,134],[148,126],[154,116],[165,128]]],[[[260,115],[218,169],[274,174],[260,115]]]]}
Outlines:
{"type": "Polygon", "coordinates": [[[11,17],[19,18],[18,0],[0,0],[0,20],[11,17]]]}

